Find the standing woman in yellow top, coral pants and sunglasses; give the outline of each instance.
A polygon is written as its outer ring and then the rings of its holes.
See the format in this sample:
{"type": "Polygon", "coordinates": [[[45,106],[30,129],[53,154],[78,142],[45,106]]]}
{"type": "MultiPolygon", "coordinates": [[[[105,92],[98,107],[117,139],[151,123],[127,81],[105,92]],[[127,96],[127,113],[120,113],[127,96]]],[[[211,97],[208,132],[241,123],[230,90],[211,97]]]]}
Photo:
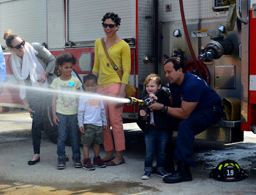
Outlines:
{"type": "MultiPolygon", "coordinates": [[[[123,71],[120,80],[108,57],[104,52],[101,39],[95,41],[95,59],[92,73],[98,77],[98,93],[106,96],[125,97],[125,89],[131,73],[131,50],[129,45],[117,36],[116,31],[120,27],[121,18],[115,13],[106,13],[102,18],[102,26],[106,37],[104,43],[108,50],[110,59],[118,69],[123,71]]],[[[104,148],[106,156],[102,159],[108,166],[125,163],[123,150],[125,150],[125,137],[123,129],[123,104],[104,103],[108,128],[104,131],[104,148]],[[113,129],[116,155],[114,155],[114,145],[111,136],[110,126],[113,129]]]]}

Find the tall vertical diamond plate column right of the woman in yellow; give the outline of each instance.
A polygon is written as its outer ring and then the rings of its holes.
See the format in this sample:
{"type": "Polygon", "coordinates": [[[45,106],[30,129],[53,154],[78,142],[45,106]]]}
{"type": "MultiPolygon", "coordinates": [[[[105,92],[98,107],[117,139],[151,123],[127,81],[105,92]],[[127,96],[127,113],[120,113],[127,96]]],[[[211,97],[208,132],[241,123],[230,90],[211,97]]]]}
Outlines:
{"type": "Polygon", "coordinates": [[[154,63],[143,62],[145,54],[152,55],[153,47],[153,1],[138,1],[138,84],[139,98],[143,92],[143,81],[150,73],[154,73],[154,63]]]}

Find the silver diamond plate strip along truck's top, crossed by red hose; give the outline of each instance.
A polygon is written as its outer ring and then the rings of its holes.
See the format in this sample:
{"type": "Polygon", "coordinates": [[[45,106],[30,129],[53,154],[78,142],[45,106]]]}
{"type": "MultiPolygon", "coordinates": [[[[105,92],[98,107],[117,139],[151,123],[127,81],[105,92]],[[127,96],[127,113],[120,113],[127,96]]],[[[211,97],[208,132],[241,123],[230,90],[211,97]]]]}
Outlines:
{"type": "MultiPolygon", "coordinates": [[[[223,17],[228,11],[216,12],[212,10],[212,0],[184,0],[184,15],[186,20],[223,17]]],[[[159,22],[170,22],[181,20],[180,4],[177,0],[159,1],[159,22]],[[166,5],[169,5],[171,10],[166,11],[166,5]]]]}

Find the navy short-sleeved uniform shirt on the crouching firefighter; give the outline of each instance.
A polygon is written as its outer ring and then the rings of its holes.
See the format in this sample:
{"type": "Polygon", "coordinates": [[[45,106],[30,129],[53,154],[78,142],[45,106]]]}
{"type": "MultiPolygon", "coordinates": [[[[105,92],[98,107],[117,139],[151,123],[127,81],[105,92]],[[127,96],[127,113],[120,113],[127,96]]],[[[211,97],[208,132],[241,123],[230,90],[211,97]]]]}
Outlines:
{"type": "Polygon", "coordinates": [[[205,108],[220,103],[220,96],[201,78],[186,71],[180,86],[170,84],[170,91],[175,100],[175,107],[181,101],[198,102],[196,108],[205,108]]]}

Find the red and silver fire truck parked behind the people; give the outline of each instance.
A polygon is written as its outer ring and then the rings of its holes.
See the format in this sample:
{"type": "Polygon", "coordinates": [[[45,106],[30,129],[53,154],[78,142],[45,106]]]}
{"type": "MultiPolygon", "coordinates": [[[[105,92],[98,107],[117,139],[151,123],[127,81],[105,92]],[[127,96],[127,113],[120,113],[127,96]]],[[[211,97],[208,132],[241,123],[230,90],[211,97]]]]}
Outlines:
{"type": "MultiPolygon", "coordinates": [[[[77,57],[76,74],[91,73],[94,42],[104,36],[101,19],[107,12],[122,19],[118,36],[131,47],[131,76],[136,98],[145,94],[150,73],[162,78],[163,62],[177,56],[186,69],[204,78],[223,99],[223,120],[198,139],[243,141],[243,131],[256,133],[256,0],[0,0],[0,34],[11,29],[29,43],[43,43],[54,56],[77,57]],[[250,55],[252,54],[252,55],[250,55]]],[[[3,38],[9,81],[10,50],[3,38]]],[[[18,90],[5,87],[0,106],[22,106],[18,90]]],[[[56,140],[51,109],[45,113],[45,132],[56,140]]],[[[138,108],[124,106],[124,122],[136,122],[138,108]]]]}

